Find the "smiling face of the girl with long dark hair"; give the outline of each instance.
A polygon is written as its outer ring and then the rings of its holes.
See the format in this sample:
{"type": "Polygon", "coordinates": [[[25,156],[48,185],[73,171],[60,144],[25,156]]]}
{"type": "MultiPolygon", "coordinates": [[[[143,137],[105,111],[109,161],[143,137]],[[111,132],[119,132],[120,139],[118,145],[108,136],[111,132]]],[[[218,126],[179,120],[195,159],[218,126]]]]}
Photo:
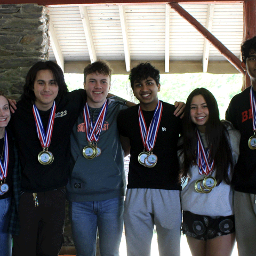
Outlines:
{"type": "Polygon", "coordinates": [[[209,109],[204,97],[199,94],[193,97],[190,104],[190,116],[199,131],[204,132],[209,119],[209,109]]]}

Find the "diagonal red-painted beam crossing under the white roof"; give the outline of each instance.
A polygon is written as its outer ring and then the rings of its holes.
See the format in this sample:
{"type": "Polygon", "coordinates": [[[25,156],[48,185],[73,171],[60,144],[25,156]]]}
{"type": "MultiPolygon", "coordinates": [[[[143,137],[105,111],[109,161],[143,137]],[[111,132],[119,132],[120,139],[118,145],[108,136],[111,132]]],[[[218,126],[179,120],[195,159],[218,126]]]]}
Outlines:
{"type": "Polygon", "coordinates": [[[192,15],[184,10],[178,3],[169,3],[172,9],[178,12],[182,18],[187,20],[200,34],[203,35],[220,53],[242,74],[245,71],[241,67],[241,61],[230,52],[225,45],[223,45],[212,33],[209,32],[201,23],[199,23],[192,15]]]}

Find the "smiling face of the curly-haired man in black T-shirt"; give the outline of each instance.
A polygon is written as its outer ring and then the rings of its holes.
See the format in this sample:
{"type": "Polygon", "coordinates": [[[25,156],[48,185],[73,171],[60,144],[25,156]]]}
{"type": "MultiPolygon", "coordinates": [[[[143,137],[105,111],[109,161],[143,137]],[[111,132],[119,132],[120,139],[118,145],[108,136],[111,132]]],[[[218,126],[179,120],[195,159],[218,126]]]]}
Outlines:
{"type": "Polygon", "coordinates": [[[160,91],[160,84],[148,77],[141,81],[135,81],[133,85],[133,94],[140,101],[142,110],[155,110],[158,102],[157,92],[160,91]]]}

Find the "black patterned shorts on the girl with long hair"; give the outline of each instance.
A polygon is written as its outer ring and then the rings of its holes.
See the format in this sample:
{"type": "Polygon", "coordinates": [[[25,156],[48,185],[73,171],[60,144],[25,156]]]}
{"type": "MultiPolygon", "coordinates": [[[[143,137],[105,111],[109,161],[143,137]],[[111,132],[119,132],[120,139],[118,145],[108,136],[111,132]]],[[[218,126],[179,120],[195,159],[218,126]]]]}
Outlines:
{"type": "Polygon", "coordinates": [[[235,217],[210,217],[183,211],[182,232],[198,240],[228,235],[235,232],[235,217]]]}

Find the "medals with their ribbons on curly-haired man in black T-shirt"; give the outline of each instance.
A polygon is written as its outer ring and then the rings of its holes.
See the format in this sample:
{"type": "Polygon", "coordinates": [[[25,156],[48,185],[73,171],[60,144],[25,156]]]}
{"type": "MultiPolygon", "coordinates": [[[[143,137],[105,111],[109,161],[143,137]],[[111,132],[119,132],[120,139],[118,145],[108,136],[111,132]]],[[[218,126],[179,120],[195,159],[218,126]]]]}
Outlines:
{"type": "Polygon", "coordinates": [[[147,129],[147,125],[139,106],[139,127],[140,127],[140,135],[142,139],[142,143],[144,146],[144,151],[139,154],[138,161],[140,164],[144,165],[145,167],[154,167],[157,163],[157,156],[152,153],[153,148],[156,143],[157,132],[159,128],[159,124],[161,121],[163,112],[163,104],[161,101],[158,100],[154,116],[150,122],[149,128],[147,129]],[[146,151],[145,151],[146,149],[146,151]]]}

